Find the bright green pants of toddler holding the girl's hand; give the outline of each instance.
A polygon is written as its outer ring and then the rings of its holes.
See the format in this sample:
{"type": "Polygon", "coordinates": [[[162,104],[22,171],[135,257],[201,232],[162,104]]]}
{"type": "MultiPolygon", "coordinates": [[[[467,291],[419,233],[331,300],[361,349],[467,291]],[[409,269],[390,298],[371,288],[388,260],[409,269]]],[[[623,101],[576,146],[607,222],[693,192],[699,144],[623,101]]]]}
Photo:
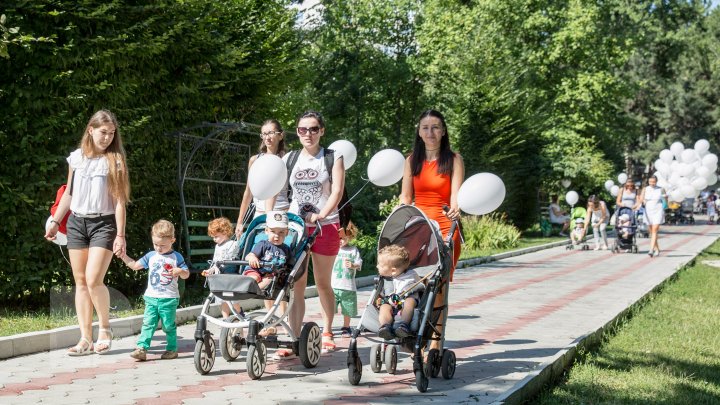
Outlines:
{"type": "Polygon", "coordinates": [[[163,332],[167,339],[165,350],[177,351],[177,326],[175,325],[175,312],[180,303],[178,298],[153,298],[143,296],[145,300],[145,314],[143,314],[143,327],[138,338],[138,347],[147,350],[150,348],[150,341],[157,329],[159,319],[163,321],[163,332]]]}

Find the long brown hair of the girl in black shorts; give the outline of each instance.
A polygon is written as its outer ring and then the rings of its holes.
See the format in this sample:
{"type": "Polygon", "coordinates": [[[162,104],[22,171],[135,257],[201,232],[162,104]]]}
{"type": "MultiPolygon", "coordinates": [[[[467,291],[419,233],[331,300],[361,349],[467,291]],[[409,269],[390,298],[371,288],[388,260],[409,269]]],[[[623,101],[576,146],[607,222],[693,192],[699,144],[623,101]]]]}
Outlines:
{"type": "Polygon", "coordinates": [[[128,176],[127,161],[125,159],[125,148],[123,148],[122,145],[120,128],[118,127],[115,114],[108,110],[100,110],[93,114],[80,140],[80,148],[84,156],[93,156],[95,154],[95,147],[93,146],[90,130],[107,124],[112,124],[115,127],[113,140],[107,149],[103,151],[103,155],[105,155],[108,160],[108,187],[110,189],[110,195],[116,200],[127,203],[130,201],[130,177],[128,176]]]}

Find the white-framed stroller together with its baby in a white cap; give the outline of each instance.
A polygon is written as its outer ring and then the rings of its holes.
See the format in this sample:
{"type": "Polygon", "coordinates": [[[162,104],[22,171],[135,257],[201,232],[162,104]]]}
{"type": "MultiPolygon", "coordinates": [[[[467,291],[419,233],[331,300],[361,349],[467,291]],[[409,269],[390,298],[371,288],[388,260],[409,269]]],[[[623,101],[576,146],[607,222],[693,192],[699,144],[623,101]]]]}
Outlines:
{"type": "Polygon", "coordinates": [[[321,333],[317,324],[307,322],[297,336],[287,322],[294,305],[294,283],[303,276],[302,263],[320,227],[307,236],[305,223],[299,216],[280,212],[271,212],[268,216],[255,218],[239,240],[238,257],[247,260],[216,263],[221,270],[224,266],[251,266],[245,275],[215,274],[207,278],[210,294],[198,315],[194,336],[195,369],[200,374],[209,373],[215,364],[215,338],[207,329],[208,323],[220,328],[220,353],[226,361],[234,361],[247,347],[247,373],[252,379],[260,378],[265,371],[267,348],[292,350],[306,368],[317,366],[320,360],[321,333]],[[233,301],[272,300],[272,305],[266,304],[266,308],[245,316],[233,310],[230,317],[218,319],[210,313],[215,297],[233,301]],[[288,302],[287,309],[281,310],[285,302],[288,302]],[[261,333],[269,328],[283,328],[288,338],[261,333]]]}

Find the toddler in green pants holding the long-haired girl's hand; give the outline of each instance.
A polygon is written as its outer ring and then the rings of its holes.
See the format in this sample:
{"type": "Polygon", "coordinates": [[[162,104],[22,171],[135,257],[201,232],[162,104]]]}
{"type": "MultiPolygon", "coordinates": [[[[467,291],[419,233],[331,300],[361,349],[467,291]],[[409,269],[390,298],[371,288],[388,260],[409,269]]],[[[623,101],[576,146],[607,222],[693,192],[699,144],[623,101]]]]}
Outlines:
{"type": "Polygon", "coordinates": [[[152,227],[153,249],[140,260],[133,260],[126,253],[120,259],[133,270],[148,269],[148,286],[143,295],[145,313],[143,326],[138,337],[137,347],[130,357],[145,361],[150,349],[152,337],[157,329],[158,320],[162,321],[167,346],[160,356],[163,360],[177,358],[177,325],[175,314],[180,303],[178,277],[190,277],[185,259],[173,250],[175,227],[170,221],[161,219],[152,227]]]}

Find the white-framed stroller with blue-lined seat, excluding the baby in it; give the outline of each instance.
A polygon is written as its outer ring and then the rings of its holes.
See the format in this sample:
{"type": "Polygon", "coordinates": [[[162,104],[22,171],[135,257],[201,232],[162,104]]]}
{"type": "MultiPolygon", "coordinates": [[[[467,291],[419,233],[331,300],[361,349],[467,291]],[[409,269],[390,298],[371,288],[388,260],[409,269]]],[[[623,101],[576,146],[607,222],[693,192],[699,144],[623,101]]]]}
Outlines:
{"type": "MultiPolygon", "coordinates": [[[[267,239],[265,230],[265,215],[255,218],[239,241],[240,257],[244,258],[255,243],[267,239]]],[[[270,285],[262,290],[252,277],[240,274],[216,274],[208,276],[207,282],[210,294],[205,299],[200,315],[197,318],[195,327],[195,369],[200,374],[207,374],[215,364],[215,340],[212,333],[207,330],[207,323],[219,326],[220,329],[220,353],[227,361],[234,361],[244,346],[247,346],[246,364],[247,373],[253,380],[260,378],[265,371],[267,360],[267,348],[288,348],[300,357],[306,368],[315,367],[320,360],[320,328],[314,322],[303,325],[300,336],[295,336],[292,329],[286,322],[293,306],[293,284],[302,277],[304,267],[302,266],[310,247],[315,241],[320,227],[315,227],[315,232],[310,236],[305,235],[305,224],[303,220],[292,213],[288,213],[288,236],[285,244],[290,246],[292,257],[284,268],[272,267],[273,279],[270,285]],[[233,314],[227,319],[214,318],[209,314],[210,304],[215,297],[225,300],[247,300],[247,299],[271,299],[274,303],[270,310],[257,310],[248,313],[246,316],[239,315],[230,305],[233,314]],[[282,315],[277,315],[281,302],[289,301],[287,310],[282,315]],[[264,327],[282,326],[289,334],[289,340],[279,340],[278,336],[263,337],[258,334],[264,327]],[[247,331],[247,336],[244,335],[247,331]]],[[[216,262],[221,269],[224,266],[247,266],[248,262],[243,260],[227,260],[216,262]]]]}

